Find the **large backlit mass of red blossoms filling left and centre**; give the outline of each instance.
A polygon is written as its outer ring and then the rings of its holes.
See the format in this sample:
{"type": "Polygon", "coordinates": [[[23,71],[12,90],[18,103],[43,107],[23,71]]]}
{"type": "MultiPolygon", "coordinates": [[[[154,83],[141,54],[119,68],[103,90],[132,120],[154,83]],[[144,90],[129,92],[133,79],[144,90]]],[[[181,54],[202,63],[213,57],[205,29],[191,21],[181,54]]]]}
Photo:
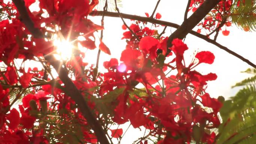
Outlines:
{"type": "MultiPolygon", "coordinates": [[[[25,6],[35,27],[45,34],[44,38],[31,36],[16,7],[12,7],[16,13],[10,21],[0,21],[0,59],[5,66],[0,76],[0,142],[96,144],[94,126],[89,125],[82,110],[70,98],[70,88],[53,76],[52,66],[44,56],[57,53],[56,35],[88,49],[97,47],[93,33],[103,27],[87,17],[98,0],[39,1],[38,12],[29,11],[35,0],[25,0],[25,6]],[[80,36],[85,40],[79,40],[80,36]],[[23,59],[21,66],[16,64],[17,58],[23,59]],[[25,70],[27,59],[40,62],[43,69],[25,70]],[[12,108],[21,98],[22,104],[12,108]]],[[[161,14],[156,13],[155,17],[160,19],[161,14]]],[[[218,112],[222,102],[211,98],[205,89],[207,82],[217,76],[195,70],[201,63],[212,64],[213,53],[198,52],[185,65],[188,46],[182,40],[174,39],[173,46],[168,48],[168,37],[162,37],[145,22],[134,21],[129,28],[136,36],[131,31],[124,32],[122,39],[126,39],[127,46],[120,61],[112,58],[104,62],[107,72],[100,73],[94,65],[83,62],[85,52],[79,48],[60,65],[106,135],[110,140],[120,140],[123,129],[110,126],[129,122],[133,128],[148,130],[140,143],[146,144],[150,137],[156,137],[158,144],[184,144],[192,140],[214,144],[216,134],[210,129],[220,125],[218,112]]],[[[110,55],[102,40],[98,47],[110,55]]]]}

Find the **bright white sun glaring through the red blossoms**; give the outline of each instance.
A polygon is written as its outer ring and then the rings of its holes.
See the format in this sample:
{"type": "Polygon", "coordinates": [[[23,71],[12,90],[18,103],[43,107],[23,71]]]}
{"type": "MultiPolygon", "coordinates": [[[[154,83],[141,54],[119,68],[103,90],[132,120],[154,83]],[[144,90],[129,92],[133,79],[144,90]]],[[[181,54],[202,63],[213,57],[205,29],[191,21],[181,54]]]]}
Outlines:
{"type": "Polygon", "coordinates": [[[57,59],[69,59],[72,55],[72,49],[74,46],[71,42],[68,42],[67,40],[55,40],[54,45],[57,47],[56,52],[58,55],[55,55],[57,59]]]}

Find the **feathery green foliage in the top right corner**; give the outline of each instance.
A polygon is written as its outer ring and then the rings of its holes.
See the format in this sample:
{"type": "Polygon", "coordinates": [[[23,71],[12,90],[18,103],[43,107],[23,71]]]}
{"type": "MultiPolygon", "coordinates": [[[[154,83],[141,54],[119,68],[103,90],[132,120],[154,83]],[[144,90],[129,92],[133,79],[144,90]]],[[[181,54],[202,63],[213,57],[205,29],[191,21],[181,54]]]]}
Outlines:
{"type": "Polygon", "coordinates": [[[231,19],[245,31],[256,30],[256,0],[235,0],[231,8],[231,19]]]}

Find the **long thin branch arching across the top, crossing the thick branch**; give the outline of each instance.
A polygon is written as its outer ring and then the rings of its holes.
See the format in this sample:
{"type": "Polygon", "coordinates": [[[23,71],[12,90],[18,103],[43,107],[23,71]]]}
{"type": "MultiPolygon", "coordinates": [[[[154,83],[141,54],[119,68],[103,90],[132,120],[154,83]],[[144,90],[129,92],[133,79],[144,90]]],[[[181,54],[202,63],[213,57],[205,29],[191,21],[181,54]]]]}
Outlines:
{"type": "MultiPolygon", "coordinates": [[[[91,12],[90,15],[92,15],[92,16],[101,16],[102,11],[94,11],[94,12],[91,12]]],[[[119,17],[118,13],[116,13],[116,12],[106,12],[105,16],[119,17]]],[[[133,20],[137,20],[137,21],[150,22],[150,23],[153,23],[153,24],[165,25],[165,26],[173,27],[173,28],[179,28],[180,27],[180,25],[174,24],[172,22],[161,21],[161,20],[158,20],[158,19],[151,19],[151,18],[147,18],[147,17],[143,17],[143,16],[128,15],[128,14],[125,14],[125,13],[122,13],[122,16],[125,19],[133,19],[133,20]]],[[[226,48],[225,46],[220,45],[219,43],[215,42],[214,40],[209,39],[207,36],[205,36],[203,34],[200,34],[200,33],[197,33],[196,31],[193,31],[193,30],[191,30],[189,33],[196,36],[196,37],[199,37],[199,38],[201,38],[201,39],[203,39],[203,40],[205,40],[205,41],[207,41],[207,42],[209,42],[209,43],[211,43],[211,44],[213,44],[217,47],[219,47],[220,49],[225,50],[226,52],[230,53],[231,55],[234,55],[235,57],[241,59],[242,61],[244,61],[247,64],[251,65],[252,67],[256,68],[256,65],[253,64],[252,62],[250,62],[248,59],[244,58],[243,56],[239,55],[238,53],[233,52],[232,50],[226,48]]]]}

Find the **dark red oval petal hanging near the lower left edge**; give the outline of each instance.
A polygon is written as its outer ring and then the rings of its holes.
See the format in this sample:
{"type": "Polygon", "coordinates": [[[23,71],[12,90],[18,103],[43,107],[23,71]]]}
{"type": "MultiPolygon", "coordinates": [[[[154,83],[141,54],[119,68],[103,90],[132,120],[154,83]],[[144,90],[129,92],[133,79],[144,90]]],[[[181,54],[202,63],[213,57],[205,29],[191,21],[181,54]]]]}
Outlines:
{"type": "Polygon", "coordinates": [[[19,112],[15,108],[10,110],[10,113],[8,114],[7,119],[10,121],[9,128],[12,130],[17,128],[21,120],[21,118],[19,117],[19,112]]]}

